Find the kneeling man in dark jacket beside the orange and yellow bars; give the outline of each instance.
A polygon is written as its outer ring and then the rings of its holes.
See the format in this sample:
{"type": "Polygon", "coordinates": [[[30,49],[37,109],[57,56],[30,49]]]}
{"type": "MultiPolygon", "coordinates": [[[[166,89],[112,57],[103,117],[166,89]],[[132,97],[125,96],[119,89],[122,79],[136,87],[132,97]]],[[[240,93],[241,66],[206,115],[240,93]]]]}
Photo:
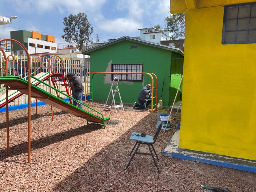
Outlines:
{"type": "Polygon", "coordinates": [[[138,107],[145,110],[148,105],[151,103],[151,84],[144,86],[138,96],[138,101],[140,105],[136,102],[133,104],[133,108],[138,107]]]}

